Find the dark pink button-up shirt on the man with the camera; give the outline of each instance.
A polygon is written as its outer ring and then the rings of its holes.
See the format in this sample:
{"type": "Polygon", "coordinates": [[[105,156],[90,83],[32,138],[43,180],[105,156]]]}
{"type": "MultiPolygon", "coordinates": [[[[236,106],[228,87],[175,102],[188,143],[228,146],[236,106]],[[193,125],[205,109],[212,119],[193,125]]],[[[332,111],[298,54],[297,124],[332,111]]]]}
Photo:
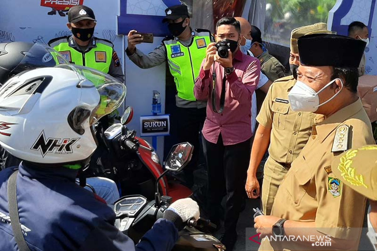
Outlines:
{"type": "MultiPolygon", "coordinates": [[[[205,61],[205,59],[204,59],[205,61]]],[[[259,60],[244,55],[240,50],[233,58],[235,70],[227,75],[225,84],[225,104],[221,114],[212,110],[212,72],[203,70],[203,64],[199,77],[195,81],[194,94],[198,100],[208,100],[207,118],[204,122],[203,136],[207,141],[217,143],[221,133],[224,145],[234,145],[248,140],[251,132],[251,96],[259,81],[261,65],[259,60]]],[[[219,110],[222,79],[224,78],[224,67],[215,62],[216,72],[216,110],[219,110]]]]}

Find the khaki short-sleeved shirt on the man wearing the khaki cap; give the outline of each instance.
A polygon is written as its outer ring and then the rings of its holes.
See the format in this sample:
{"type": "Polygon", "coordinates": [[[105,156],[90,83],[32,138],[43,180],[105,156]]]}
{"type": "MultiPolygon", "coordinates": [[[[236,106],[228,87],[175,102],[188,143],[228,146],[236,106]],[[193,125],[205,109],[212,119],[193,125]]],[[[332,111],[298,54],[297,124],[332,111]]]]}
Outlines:
{"type": "Polygon", "coordinates": [[[288,93],[296,83],[293,76],[278,79],[267,92],[259,124],[272,128],[268,153],[281,163],[292,163],[307,143],[313,125],[313,113],[296,112],[290,107],[288,93]]]}

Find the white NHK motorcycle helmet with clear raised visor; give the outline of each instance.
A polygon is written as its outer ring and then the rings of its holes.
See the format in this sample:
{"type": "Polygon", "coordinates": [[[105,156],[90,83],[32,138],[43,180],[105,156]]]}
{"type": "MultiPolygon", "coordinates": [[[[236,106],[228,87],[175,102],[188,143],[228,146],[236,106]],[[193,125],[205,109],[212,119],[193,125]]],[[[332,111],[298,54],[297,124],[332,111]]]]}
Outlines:
{"type": "Polygon", "coordinates": [[[125,96],[123,84],[87,67],[24,71],[0,88],[0,144],[34,163],[85,161],[97,148],[92,124],[125,96]]]}

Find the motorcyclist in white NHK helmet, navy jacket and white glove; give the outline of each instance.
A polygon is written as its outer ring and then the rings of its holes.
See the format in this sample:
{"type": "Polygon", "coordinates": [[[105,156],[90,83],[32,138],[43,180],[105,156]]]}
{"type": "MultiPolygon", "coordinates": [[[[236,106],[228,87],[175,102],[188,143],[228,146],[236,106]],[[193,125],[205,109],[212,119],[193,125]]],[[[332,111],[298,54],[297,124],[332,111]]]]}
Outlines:
{"type": "Polygon", "coordinates": [[[17,171],[21,239],[30,250],[170,250],[182,222],[199,218],[196,202],[178,200],[135,246],[114,227],[115,213],[103,199],[75,183],[97,147],[93,123],[125,95],[123,84],[73,66],[24,71],[0,88],[0,144],[23,160],[0,172],[1,251],[20,248],[7,196],[17,171]]]}

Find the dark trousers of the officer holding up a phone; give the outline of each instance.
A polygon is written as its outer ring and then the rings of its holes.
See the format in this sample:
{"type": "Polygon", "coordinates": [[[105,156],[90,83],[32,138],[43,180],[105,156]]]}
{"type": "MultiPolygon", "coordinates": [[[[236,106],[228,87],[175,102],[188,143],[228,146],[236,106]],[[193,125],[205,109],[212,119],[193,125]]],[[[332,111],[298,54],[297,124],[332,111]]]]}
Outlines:
{"type": "Polygon", "coordinates": [[[180,108],[176,107],[176,119],[178,129],[178,141],[189,142],[194,146],[193,155],[189,164],[184,168],[184,175],[187,185],[194,184],[193,172],[196,169],[200,151],[200,134],[203,129],[206,108],[180,108]]]}

